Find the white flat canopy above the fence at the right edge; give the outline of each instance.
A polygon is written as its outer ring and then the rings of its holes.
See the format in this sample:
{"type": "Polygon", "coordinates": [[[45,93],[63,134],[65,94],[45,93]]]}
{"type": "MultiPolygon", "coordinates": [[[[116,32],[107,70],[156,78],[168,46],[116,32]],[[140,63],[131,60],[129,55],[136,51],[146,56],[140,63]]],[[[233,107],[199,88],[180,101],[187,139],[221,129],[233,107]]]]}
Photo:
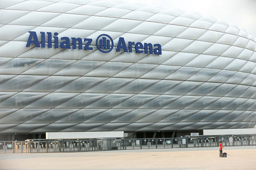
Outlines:
{"type": "Polygon", "coordinates": [[[203,129],[205,135],[256,134],[256,128],[244,129],[203,129]]]}

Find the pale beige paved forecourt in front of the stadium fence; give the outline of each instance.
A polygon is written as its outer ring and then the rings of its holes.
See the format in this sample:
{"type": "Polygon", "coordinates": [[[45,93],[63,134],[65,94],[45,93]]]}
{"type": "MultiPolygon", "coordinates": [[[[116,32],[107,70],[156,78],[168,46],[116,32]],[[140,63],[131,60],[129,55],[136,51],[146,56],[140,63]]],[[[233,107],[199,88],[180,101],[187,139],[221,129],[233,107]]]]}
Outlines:
{"type": "Polygon", "coordinates": [[[2,153],[0,169],[256,169],[256,146],[2,153]]]}

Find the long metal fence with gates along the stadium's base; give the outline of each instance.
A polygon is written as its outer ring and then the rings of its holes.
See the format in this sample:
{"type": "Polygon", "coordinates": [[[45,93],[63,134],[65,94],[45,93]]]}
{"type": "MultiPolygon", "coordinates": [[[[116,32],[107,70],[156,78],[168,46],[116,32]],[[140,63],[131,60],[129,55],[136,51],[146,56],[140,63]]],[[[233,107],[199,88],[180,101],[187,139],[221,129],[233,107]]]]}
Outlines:
{"type": "Polygon", "coordinates": [[[48,153],[151,148],[218,147],[220,141],[223,146],[256,145],[256,135],[0,141],[0,153],[48,153]]]}

